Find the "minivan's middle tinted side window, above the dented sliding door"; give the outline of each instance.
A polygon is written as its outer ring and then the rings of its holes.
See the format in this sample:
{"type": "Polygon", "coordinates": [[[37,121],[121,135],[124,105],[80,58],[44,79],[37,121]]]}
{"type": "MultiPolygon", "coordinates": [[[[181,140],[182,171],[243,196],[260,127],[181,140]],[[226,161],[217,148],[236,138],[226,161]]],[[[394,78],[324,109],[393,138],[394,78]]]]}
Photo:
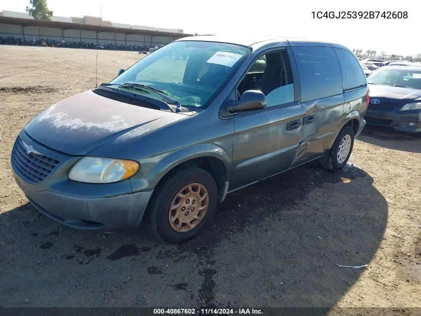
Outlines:
{"type": "Polygon", "coordinates": [[[291,47],[301,85],[301,102],[343,92],[341,69],[333,47],[291,47]]]}

